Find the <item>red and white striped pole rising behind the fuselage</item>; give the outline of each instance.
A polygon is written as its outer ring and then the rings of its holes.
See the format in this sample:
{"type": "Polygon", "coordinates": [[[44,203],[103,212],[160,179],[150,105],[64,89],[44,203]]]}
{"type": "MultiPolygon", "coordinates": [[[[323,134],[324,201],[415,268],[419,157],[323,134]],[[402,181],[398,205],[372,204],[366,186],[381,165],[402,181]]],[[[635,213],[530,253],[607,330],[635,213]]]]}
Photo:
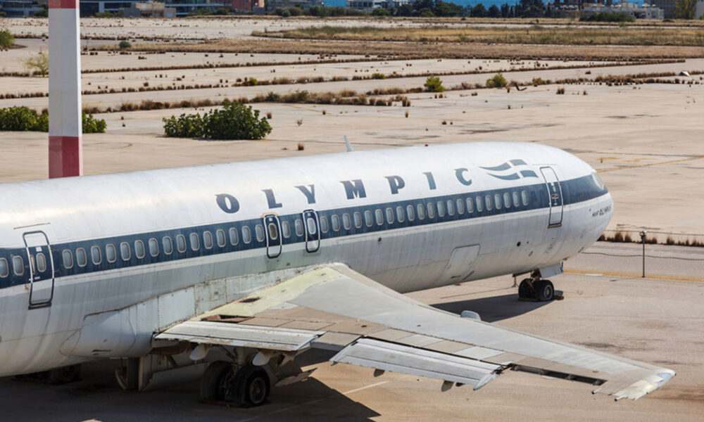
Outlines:
{"type": "Polygon", "coordinates": [[[79,0],[49,0],[49,178],[83,174],[79,0]]]}

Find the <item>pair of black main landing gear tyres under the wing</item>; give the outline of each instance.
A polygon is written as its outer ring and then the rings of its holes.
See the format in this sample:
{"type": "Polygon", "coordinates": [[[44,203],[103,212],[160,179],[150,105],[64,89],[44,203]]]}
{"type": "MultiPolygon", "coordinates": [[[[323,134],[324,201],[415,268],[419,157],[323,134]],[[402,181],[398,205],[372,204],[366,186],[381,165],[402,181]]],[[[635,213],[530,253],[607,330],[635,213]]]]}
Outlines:
{"type": "Polygon", "coordinates": [[[237,407],[265,404],[271,389],[269,376],[260,366],[237,366],[217,361],[208,366],[201,378],[201,399],[231,402],[237,407]]]}

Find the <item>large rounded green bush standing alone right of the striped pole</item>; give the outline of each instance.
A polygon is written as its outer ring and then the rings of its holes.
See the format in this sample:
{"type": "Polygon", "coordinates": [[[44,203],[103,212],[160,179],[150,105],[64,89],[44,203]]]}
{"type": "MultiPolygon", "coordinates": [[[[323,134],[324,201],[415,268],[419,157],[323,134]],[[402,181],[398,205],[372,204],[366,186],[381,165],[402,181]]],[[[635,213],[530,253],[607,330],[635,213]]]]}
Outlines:
{"type": "Polygon", "coordinates": [[[262,139],[271,132],[259,110],[242,103],[222,103],[222,109],[200,114],[163,119],[165,136],[208,139],[262,139]]]}

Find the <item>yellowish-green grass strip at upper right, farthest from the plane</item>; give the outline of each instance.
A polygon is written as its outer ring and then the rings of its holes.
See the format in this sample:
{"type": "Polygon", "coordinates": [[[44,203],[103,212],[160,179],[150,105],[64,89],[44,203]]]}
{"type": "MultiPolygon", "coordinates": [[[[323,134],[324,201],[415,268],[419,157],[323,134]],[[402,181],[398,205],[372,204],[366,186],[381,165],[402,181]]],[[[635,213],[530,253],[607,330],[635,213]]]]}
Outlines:
{"type": "Polygon", "coordinates": [[[665,27],[308,27],[259,37],[497,44],[704,46],[704,28],[665,27]]]}

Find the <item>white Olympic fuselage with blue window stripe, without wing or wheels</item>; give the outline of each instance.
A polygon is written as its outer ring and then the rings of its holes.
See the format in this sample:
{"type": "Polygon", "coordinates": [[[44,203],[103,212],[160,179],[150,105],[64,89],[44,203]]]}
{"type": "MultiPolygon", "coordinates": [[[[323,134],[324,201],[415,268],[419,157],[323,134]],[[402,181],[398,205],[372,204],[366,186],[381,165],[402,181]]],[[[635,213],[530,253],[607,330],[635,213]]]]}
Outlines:
{"type": "Polygon", "coordinates": [[[550,267],[611,214],[589,165],[524,143],[3,184],[0,376],[142,356],[153,333],[321,263],[400,292],[550,267]]]}

